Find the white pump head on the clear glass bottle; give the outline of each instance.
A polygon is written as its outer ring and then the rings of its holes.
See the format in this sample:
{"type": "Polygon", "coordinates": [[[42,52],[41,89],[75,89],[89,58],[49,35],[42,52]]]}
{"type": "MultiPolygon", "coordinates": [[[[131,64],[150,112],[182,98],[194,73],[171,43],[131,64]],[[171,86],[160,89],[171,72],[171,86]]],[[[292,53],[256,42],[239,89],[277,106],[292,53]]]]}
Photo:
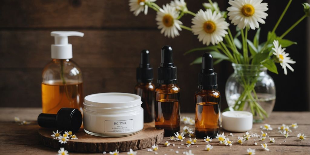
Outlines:
{"type": "Polygon", "coordinates": [[[71,59],[72,44],[69,44],[68,37],[83,37],[84,33],[77,31],[53,31],[51,36],[55,37],[55,44],[51,45],[52,59],[71,59]]]}

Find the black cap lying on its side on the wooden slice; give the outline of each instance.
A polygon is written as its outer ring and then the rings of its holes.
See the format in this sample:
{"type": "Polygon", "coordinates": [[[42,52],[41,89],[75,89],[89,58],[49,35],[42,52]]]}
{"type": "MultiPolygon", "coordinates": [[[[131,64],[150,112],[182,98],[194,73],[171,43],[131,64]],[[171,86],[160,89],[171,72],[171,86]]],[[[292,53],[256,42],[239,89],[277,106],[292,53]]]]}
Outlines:
{"type": "Polygon", "coordinates": [[[38,124],[63,131],[78,131],[82,125],[82,113],[74,108],[61,108],[57,114],[41,113],[38,124]]]}

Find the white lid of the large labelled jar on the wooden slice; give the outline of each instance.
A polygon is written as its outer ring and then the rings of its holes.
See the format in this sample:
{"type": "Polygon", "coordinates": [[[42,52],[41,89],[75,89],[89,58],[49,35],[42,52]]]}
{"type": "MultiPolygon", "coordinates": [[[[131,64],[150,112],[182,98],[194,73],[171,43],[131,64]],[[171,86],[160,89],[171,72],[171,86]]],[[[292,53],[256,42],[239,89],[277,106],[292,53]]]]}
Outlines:
{"type": "Polygon", "coordinates": [[[99,93],[87,95],[84,105],[96,106],[98,108],[126,108],[142,104],[141,97],[129,93],[99,93]]]}

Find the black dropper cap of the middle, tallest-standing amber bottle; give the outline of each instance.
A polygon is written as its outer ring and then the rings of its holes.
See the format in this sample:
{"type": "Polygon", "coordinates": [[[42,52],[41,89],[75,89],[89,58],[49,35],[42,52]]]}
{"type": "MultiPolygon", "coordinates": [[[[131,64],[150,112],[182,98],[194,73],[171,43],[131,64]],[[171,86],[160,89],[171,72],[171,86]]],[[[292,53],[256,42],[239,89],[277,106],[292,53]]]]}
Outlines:
{"type": "Polygon", "coordinates": [[[168,45],[162,47],[162,63],[158,67],[159,84],[175,84],[178,82],[177,69],[173,64],[172,48],[168,45]]]}

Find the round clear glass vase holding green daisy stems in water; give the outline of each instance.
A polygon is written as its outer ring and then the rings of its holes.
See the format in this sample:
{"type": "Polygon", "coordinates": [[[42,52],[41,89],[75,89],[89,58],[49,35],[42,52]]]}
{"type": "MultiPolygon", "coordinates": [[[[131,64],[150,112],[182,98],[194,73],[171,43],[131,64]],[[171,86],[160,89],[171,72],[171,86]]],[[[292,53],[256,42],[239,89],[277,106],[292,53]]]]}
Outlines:
{"type": "Polygon", "coordinates": [[[234,64],[225,86],[230,110],[249,111],[253,122],[270,116],[276,102],[276,86],[263,65],[234,64]]]}

